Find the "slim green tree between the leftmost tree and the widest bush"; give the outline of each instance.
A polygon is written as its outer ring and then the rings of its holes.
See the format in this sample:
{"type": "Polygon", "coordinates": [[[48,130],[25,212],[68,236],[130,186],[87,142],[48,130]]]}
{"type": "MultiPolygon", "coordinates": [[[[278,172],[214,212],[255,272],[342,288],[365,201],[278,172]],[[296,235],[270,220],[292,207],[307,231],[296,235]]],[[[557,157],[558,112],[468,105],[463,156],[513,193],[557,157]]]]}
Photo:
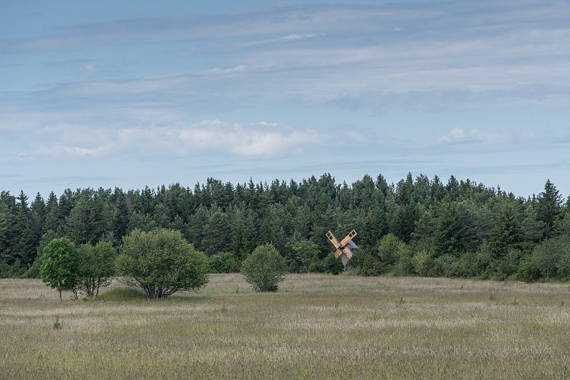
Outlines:
{"type": "Polygon", "coordinates": [[[81,260],[78,289],[86,292],[87,297],[96,297],[99,295],[99,287],[109,285],[115,274],[117,250],[113,244],[104,241],[96,246],[82,244],[78,250],[81,260]]]}

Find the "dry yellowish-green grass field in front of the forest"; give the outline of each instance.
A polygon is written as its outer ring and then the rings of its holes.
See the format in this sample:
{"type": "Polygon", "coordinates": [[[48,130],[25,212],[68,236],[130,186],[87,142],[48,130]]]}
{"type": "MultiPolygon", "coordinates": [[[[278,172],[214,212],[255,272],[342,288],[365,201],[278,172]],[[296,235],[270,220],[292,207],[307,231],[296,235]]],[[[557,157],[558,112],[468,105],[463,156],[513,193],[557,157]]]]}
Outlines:
{"type": "Polygon", "coordinates": [[[0,280],[1,379],[570,377],[563,283],[311,274],[262,294],[230,274],[162,301],[66,297],[0,280]]]}

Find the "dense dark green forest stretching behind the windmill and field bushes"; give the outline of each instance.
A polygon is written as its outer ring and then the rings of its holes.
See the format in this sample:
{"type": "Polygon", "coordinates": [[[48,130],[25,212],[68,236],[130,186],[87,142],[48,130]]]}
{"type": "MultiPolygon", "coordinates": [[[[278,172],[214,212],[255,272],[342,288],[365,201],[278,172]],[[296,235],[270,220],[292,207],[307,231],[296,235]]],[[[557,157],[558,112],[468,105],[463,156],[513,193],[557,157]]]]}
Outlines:
{"type": "Polygon", "coordinates": [[[524,198],[412,174],[397,184],[366,175],[351,185],[330,174],[271,184],[210,178],[193,189],[67,189],[31,201],[2,191],[0,277],[38,277],[54,238],[120,248],[130,231],[155,228],[180,231],[214,272],[237,271],[254,248],[273,243],[291,272],[338,273],[325,234],[340,240],[356,229],[360,249],[348,270],[361,275],[570,278],[570,197],[550,181],[524,198]]]}

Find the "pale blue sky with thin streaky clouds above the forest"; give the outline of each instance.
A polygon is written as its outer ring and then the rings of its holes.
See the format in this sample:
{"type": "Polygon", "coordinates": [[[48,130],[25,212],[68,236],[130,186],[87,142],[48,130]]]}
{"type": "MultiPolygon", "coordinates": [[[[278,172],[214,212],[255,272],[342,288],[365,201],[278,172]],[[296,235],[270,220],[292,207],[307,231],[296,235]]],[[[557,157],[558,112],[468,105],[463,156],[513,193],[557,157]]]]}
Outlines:
{"type": "Polygon", "coordinates": [[[570,1],[1,1],[0,191],[570,193],[570,1]]]}

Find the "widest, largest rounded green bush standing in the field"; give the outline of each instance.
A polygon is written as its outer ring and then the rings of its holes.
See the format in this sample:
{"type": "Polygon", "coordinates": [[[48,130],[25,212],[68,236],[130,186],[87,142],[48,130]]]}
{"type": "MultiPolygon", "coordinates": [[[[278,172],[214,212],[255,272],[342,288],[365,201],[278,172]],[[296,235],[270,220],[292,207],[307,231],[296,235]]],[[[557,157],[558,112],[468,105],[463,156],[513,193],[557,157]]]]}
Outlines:
{"type": "Polygon", "coordinates": [[[165,298],[208,283],[208,263],[180,231],[164,228],[132,231],[123,238],[116,261],[125,282],[139,287],[149,298],[165,298]]]}

